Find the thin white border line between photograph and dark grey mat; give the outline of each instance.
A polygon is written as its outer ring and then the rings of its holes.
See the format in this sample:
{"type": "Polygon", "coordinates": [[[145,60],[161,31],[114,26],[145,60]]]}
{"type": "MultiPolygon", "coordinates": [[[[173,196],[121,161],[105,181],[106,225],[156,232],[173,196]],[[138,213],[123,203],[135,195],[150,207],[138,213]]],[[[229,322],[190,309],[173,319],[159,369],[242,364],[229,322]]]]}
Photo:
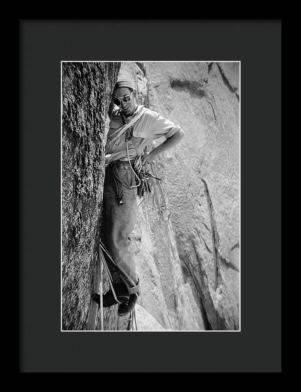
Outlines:
{"type": "MultiPolygon", "coordinates": [[[[240,169],[240,151],[241,151],[241,132],[240,132],[240,124],[241,124],[241,110],[240,110],[240,105],[241,105],[241,62],[240,61],[217,61],[217,60],[210,60],[210,61],[205,61],[205,60],[189,60],[189,61],[120,61],[120,60],[97,60],[97,61],[86,61],[86,60],[62,60],[61,61],[61,332],[241,332],[241,169],[240,169]],[[152,330],[152,331],[115,331],[115,330],[63,330],[63,269],[62,269],[62,135],[63,135],[63,76],[62,76],[62,64],[63,63],[239,63],[239,330],[184,330],[184,331],[178,331],[178,330],[152,330]]],[[[154,316],[153,316],[154,317],[154,316]]]]}

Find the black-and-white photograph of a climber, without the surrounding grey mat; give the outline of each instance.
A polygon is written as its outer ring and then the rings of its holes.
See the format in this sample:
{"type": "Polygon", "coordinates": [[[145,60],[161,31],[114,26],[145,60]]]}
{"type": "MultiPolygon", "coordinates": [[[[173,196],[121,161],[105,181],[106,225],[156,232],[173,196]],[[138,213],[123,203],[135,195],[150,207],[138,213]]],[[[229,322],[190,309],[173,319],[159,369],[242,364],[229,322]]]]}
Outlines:
{"type": "Polygon", "coordinates": [[[61,62],[61,331],[241,330],[234,60],[61,62]]]}

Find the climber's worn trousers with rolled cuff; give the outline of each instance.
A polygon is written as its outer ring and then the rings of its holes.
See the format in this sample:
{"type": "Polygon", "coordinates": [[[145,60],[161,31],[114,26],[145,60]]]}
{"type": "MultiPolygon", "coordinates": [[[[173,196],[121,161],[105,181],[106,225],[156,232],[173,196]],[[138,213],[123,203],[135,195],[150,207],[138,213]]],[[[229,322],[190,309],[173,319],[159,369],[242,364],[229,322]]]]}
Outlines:
{"type": "MultiPolygon", "coordinates": [[[[120,161],[119,161],[120,162],[120,161]]],[[[130,234],[138,214],[135,175],[129,163],[106,167],[103,188],[101,238],[117,268],[104,255],[113,284],[124,282],[129,293],[138,292],[138,278],[130,234]]]]}

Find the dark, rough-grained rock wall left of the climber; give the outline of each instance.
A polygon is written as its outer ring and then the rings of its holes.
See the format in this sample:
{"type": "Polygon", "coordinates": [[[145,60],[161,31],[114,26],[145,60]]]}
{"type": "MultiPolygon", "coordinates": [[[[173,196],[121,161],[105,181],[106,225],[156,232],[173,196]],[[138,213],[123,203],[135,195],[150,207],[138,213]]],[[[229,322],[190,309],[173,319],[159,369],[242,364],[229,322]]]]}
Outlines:
{"type": "MultiPolygon", "coordinates": [[[[94,329],[87,324],[98,260],[104,123],[119,67],[62,63],[62,330],[94,329]]],[[[115,329],[116,310],[104,318],[106,328],[115,329]]]]}

